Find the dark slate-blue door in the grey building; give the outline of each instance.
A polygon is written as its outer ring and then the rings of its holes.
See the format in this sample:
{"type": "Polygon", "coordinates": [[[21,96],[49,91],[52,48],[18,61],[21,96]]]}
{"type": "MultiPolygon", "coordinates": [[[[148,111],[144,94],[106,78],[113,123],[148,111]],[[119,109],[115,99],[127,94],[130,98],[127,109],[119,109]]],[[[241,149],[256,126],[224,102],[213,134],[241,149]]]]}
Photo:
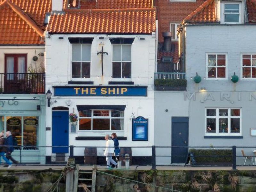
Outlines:
{"type": "Polygon", "coordinates": [[[185,163],[188,155],[188,117],[172,117],[172,163],[185,163]]]}

